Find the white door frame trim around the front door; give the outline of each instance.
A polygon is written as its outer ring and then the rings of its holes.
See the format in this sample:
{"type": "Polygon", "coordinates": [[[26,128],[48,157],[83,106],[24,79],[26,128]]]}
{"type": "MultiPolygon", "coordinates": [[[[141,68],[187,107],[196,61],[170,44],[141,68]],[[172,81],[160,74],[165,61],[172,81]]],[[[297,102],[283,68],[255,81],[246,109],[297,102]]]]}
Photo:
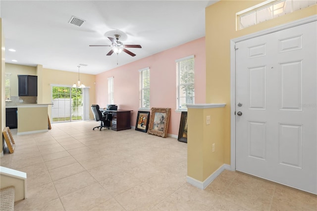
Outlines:
{"type": "Polygon", "coordinates": [[[295,26],[317,21],[317,15],[309,16],[303,19],[292,21],[283,25],[275,26],[263,31],[245,35],[239,38],[230,40],[230,126],[231,126],[231,141],[230,141],[230,169],[236,169],[236,51],[235,45],[238,42],[249,40],[251,38],[260,37],[269,33],[281,31],[295,26]]]}

